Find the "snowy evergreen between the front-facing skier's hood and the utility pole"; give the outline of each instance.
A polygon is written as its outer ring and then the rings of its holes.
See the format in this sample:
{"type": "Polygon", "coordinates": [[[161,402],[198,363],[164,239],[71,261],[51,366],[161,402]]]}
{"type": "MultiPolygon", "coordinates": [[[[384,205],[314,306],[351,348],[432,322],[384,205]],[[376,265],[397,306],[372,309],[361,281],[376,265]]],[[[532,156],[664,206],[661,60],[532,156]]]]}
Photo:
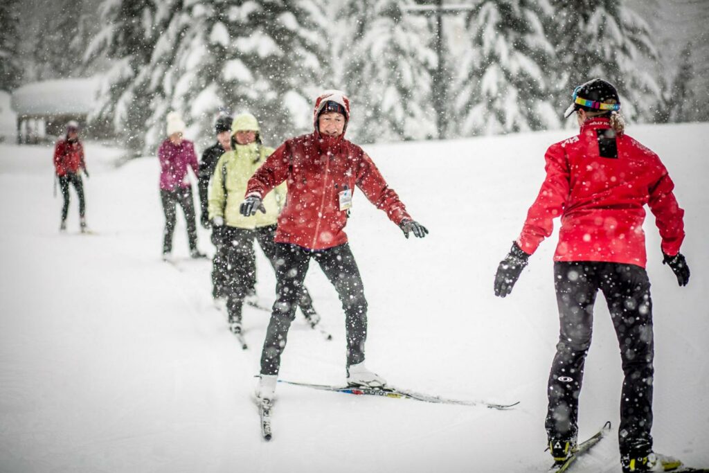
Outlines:
{"type": "MultiPolygon", "coordinates": [[[[411,4],[411,2],[408,2],[411,4]]],[[[343,86],[354,113],[350,138],[364,142],[435,136],[426,19],[406,15],[396,0],[348,1],[333,24],[340,30],[343,86]]],[[[336,35],[333,32],[333,35],[336,35]]]]}

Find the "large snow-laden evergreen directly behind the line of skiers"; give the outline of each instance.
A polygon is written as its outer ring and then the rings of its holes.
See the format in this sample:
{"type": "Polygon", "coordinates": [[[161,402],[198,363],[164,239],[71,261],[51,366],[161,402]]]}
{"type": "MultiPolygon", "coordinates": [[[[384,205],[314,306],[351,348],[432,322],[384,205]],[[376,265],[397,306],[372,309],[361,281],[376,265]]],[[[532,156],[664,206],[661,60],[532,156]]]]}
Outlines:
{"type": "Polygon", "coordinates": [[[250,111],[274,143],[310,130],[310,97],[324,72],[317,12],[309,1],[216,0],[174,15],[150,62],[150,91],[163,99],[148,141],[159,140],[170,110],[209,140],[220,110],[250,111]]]}

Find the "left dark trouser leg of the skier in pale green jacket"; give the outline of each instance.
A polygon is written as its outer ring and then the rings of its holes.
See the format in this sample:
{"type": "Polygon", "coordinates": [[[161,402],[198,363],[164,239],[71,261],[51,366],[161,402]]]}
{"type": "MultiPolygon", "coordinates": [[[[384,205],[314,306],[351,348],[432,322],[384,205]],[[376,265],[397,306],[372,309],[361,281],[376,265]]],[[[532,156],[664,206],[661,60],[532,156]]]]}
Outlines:
{"type": "Polygon", "coordinates": [[[253,230],[222,226],[218,230],[223,242],[224,286],[230,322],[241,322],[244,298],[254,279],[253,230]]]}

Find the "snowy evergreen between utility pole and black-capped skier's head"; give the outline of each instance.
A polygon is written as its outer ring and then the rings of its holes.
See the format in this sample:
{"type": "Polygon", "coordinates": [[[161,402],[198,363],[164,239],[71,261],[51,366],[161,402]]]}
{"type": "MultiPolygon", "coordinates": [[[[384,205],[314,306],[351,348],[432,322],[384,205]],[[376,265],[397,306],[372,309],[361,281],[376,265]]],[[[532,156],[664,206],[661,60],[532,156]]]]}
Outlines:
{"type": "Polygon", "coordinates": [[[483,0],[467,15],[470,47],[459,60],[455,102],[460,135],[559,126],[549,105],[551,13],[546,0],[483,0]]]}

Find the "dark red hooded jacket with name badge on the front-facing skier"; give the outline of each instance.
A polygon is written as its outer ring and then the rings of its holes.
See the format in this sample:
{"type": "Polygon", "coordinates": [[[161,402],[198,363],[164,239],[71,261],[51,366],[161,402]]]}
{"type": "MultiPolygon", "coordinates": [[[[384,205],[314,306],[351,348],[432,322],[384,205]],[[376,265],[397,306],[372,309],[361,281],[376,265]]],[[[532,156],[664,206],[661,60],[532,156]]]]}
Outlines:
{"type": "Polygon", "coordinates": [[[286,205],[278,220],[275,241],[323,250],[347,242],[347,211],[340,210],[339,193],[357,186],[372,204],[397,225],[411,218],[374,162],[362,148],[315,131],[287,140],[250,179],[246,195],[268,194],[287,182],[286,205]]]}

